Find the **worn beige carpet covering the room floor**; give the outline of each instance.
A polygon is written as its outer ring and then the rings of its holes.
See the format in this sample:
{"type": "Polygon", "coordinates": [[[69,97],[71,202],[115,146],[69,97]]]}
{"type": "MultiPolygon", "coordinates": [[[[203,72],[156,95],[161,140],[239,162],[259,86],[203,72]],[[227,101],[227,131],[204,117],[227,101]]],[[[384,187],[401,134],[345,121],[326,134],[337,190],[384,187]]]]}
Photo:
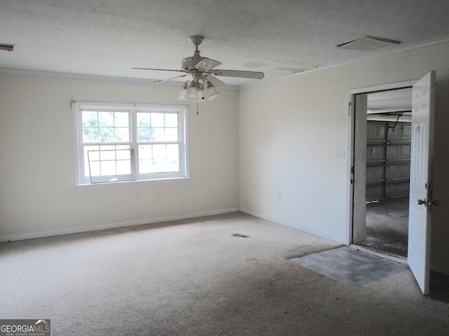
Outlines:
{"type": "Polygon", "coordinates": [[[449,335],[448,286],[351,287],[288,260],[340,246],[246,214],[0,244],[0,318],[52,335],[449,335]]]}

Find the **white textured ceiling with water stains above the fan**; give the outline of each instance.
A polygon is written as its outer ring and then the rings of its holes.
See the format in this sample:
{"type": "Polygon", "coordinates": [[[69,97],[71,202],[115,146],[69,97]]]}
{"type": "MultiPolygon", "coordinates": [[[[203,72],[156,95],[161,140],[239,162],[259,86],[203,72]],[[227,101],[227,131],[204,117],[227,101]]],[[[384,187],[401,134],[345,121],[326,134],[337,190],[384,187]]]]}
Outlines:
{"type": "MultiPolygon", "coordinates": [[[[161,80],[193,55],[221,69],[283,78],[427,43],[449,41],[448,0],[1,0],[0,71],[49,71],[161,80]],[[364,36],[401,41],[372,51],[337,48],[364,36]]],[[[228,85],[256,80],[221,78],[228,85]]]]}

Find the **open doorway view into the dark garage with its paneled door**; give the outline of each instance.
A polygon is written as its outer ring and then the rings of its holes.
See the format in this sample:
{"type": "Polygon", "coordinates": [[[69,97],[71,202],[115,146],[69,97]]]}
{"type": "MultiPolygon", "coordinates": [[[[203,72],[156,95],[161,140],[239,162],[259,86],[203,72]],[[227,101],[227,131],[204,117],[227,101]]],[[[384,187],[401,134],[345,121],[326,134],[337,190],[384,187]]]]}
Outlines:
{"type": "Polygon", "coordinates": [[[366,232],[353,244],[406,262],[412,88],[365,95],[366,232]]]}

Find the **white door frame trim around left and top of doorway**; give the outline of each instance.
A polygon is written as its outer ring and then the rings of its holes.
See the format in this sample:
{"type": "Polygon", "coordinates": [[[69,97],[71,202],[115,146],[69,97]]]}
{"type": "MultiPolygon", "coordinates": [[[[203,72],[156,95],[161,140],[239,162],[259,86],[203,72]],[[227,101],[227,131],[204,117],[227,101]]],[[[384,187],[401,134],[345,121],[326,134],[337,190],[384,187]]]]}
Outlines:
{"type": "Polygon", "coordinates": [[[412,87],[417,80],[406,80],[402,82],[381,84],[369,87],[360,87],[356,89],[349,90],[348,93],[348,105],[349,105],[349,127],[348,127],[348,180],[349,190],[348,190],[348,227],[347,227],[347,245],[353,244],[353,233],[354,233],[354,167],[356,165],[356,155],[355,155],[355,137],[356,137],[356,95],[357,94],[368,94],[379,91],[387,90],[397,90],[405,87],[412,87]]]}

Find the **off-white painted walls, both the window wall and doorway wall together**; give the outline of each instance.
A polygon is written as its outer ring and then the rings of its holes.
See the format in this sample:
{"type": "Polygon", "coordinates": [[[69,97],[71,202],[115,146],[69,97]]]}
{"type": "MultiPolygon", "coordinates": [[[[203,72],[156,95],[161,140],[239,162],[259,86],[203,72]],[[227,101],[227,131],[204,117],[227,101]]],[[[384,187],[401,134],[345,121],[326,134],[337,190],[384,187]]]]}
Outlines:
{"type": "Polygon", "coordinates": [[[74,188],[71,99],[179,104],[177,87],[0,75],[0,241],[243,211],[348,241],[348,92],[437,71],[432,264],[449,274],[449,45],[310,74],[189,112],[182,183],[74,188]],[[141,199],[135,199],[140,192],[141,199]],[[281,194],[281,200],[278,200],[281,194]]]}

